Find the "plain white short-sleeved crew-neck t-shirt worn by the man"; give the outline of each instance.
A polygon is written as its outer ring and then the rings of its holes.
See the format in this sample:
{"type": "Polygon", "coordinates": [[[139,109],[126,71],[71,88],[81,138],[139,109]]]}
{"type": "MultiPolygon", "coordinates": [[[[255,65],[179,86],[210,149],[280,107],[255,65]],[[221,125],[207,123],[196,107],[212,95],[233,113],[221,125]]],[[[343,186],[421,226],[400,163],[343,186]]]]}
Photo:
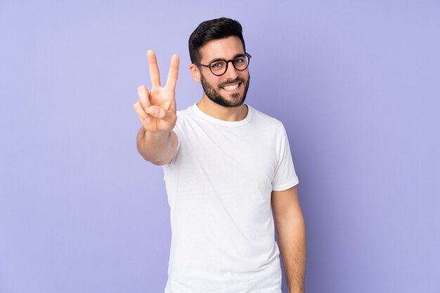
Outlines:
{"type": "Polygon", "coordinates": [[[165,293],[281,293],[271,191],[298,183],[284,126],[247,105],[226,122],[177,112],[163,166],[172,243],[165,293]]]}

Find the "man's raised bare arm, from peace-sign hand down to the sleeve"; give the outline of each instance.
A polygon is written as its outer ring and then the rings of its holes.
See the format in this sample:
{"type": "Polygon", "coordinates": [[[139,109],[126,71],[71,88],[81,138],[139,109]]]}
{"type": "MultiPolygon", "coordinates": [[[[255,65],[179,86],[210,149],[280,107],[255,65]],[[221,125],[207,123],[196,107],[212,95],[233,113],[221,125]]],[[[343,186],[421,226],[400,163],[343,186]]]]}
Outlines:
{"type": "Polygon", "coordinates": [[[151,90],[138,87],[139,100],[134,110],[141,120],[137,146],[142,157],[155,165],[167,164],[176,150],[178,138],[172,129],[176,125],[175,89],[179,74],[179,56],[174,54],[168,72],[167,84],[160,86],[160,72],[155,53],[147,52],[150,67],[151,90]]]}

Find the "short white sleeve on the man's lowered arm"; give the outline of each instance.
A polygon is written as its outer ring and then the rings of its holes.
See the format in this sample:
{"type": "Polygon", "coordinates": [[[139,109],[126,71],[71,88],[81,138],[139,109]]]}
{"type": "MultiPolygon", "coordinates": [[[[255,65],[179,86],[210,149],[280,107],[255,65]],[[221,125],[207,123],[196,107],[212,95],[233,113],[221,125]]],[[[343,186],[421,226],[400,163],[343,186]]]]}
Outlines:
{"type": "Polygon", "coordinates": [[[278,164],[272,181],[272,190],[283,191],[299,183],[298,176],[293,166],[292,154],[290,153],[289,140],[284,126],[278,138],[278,164]]]}

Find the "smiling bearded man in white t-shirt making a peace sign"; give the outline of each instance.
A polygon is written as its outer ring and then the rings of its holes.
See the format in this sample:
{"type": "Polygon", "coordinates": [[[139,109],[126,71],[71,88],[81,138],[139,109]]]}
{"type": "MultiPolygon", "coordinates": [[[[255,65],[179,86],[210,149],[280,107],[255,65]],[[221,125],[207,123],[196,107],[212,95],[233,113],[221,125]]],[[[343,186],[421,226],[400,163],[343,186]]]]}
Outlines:
{"type": "Polygon", "coordinates": [[[289,292],[304,292],[298,178],[283,124],[244,103],[251,56],[240,23],[202,22],[189,51],[204,90],[199,103],[176,112],[179,57],[161,87],[148,51],[153,87],[139,86],[134,104],[138,151],[162,166],[171,209],[165,293],[280,293],[280,252],[289,292]]]}

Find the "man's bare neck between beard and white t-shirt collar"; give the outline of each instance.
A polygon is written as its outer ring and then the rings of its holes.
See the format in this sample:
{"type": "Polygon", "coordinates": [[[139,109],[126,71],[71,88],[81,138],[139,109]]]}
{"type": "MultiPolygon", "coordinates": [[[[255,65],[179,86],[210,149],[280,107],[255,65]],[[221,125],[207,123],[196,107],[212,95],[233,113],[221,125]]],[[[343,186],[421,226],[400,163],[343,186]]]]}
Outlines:
{"type": "Polygon", "coordinates": [[[224,121],[241,121],[247,116],[247,106],[245,104],[228,108],[214,103],[205,94],[203,94],[197,106],[205,114],[224,121]]]}

